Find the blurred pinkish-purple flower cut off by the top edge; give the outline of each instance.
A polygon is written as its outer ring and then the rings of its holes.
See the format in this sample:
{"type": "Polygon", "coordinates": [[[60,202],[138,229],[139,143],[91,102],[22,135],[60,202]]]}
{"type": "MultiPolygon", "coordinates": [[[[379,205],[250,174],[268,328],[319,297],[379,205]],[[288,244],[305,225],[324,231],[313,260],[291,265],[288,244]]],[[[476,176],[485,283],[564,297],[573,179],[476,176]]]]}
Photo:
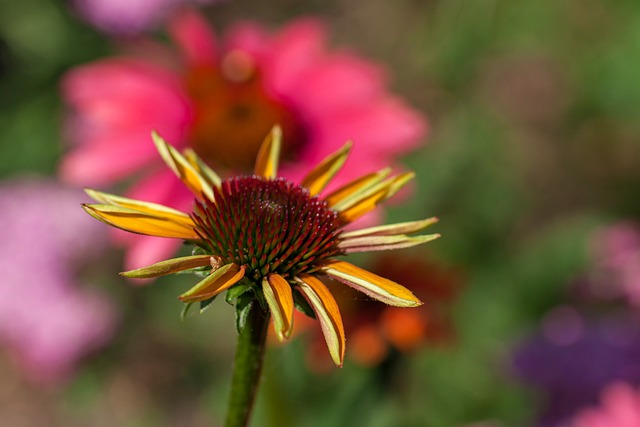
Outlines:
{"type": "Polygon", "coordinates": [[[159,25],[180,6],[217,0],[73,0],[88,23],[110,34],[134,35],[159,25]]]}

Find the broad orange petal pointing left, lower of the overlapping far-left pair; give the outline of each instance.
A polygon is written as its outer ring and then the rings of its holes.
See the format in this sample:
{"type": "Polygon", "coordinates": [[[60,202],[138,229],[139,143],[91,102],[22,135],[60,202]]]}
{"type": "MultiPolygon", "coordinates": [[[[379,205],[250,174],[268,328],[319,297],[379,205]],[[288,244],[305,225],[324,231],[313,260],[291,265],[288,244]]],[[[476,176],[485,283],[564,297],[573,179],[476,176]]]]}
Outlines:
{"type": "Polygon", "coordinates": [[[148,236],[200,240],[191,218],[169,218],[164,213],[153,215],[134,209],[113,205],[82,205],[97,220],[132,233],[148,236]]]}

